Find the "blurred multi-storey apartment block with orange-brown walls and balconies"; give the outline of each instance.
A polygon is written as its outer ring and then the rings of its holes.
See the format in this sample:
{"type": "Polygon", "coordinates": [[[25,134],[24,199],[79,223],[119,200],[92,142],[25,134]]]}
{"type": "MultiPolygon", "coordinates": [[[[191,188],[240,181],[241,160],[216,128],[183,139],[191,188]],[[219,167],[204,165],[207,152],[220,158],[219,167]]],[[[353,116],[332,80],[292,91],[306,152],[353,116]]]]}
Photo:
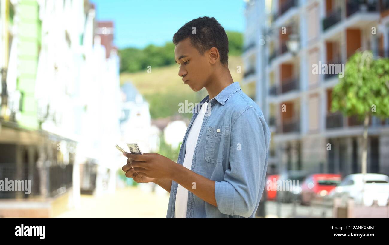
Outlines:
{"type": "MultiPolygon", "coordinates": [[[[268,171],[343,176],[361,172],[362,122],[330,112],[338,76],[314,74],[312,65],[321,69],[322,64],[345,64],[359,48],[388,57],[388,2],[247,1],[244,60],[252,72],[247,71],[244,81],[255,84],[257,103],[261,98],[266,101],[264,114],[272,131],[272,170],[268,171]],[[263,31],[258,12],[265,4],[270,24],[263,31]],[[265,79],[261,79],[259,56],[266,61],[265,79]],[[327,150],[328,143],[331,150],[327,150]]],[[[388,147],[389,121],[371,118],[368,173],[389,174],[388,147]]]]}

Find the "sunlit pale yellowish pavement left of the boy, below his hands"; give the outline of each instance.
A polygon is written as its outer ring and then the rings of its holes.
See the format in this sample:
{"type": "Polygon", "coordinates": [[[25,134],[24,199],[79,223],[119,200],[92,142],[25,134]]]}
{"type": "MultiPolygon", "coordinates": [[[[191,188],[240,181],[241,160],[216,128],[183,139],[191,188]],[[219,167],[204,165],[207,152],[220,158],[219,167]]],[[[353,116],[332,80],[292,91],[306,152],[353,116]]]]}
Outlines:
{"type": "Polygon", "coordinates": [[[58,218],[166,218],[169,193],[145,192],[139,187],[117,189],[101,197],[81,195],[81,208],[69,210],[58,218]]]}

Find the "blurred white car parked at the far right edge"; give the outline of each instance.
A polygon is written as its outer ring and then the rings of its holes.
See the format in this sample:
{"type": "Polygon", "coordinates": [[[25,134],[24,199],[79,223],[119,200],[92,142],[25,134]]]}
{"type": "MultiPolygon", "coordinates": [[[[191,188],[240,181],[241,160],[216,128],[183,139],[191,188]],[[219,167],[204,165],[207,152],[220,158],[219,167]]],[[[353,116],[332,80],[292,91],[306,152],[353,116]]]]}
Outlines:
{"type": "Polygon", "coordinates": [[[340,185],[336,186],[329,197],[354,198],[356,204],[371,206],[373,200],[379,206],[386,206],[389,198],[389,176],[385,174],[366,174],[363,191],[363,174],[347,175],[340,185]],[[363,194],[364,193],[364,194],[363,194]]]}

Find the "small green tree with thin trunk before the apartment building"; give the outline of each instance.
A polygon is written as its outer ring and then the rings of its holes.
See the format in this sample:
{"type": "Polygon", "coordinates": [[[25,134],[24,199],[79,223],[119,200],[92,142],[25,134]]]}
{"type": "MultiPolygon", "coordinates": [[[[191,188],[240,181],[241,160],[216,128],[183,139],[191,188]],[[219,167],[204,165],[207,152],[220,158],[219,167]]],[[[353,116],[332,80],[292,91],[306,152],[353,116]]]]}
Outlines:
{"type": "Polygon", "coordinates": [[[389,117],[389,59],[375,59],[370,50],[356,52],[343,72],[333,89],[331,111],[363,120],[362,173],[366,174],[369,119],[389,117]]]}

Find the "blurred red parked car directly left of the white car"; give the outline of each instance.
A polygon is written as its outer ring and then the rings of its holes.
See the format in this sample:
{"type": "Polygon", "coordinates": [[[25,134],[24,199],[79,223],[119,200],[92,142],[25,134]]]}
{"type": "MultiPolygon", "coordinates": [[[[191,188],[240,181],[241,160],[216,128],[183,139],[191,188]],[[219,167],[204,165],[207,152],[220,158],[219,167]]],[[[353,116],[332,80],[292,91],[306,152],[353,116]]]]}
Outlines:
{"type": "Polygon", "coordinates": [[[301,185],[301,205],[310,205],[317,197],[325,197],[341,182],[340,174],[311,174],[301,185]]]}

